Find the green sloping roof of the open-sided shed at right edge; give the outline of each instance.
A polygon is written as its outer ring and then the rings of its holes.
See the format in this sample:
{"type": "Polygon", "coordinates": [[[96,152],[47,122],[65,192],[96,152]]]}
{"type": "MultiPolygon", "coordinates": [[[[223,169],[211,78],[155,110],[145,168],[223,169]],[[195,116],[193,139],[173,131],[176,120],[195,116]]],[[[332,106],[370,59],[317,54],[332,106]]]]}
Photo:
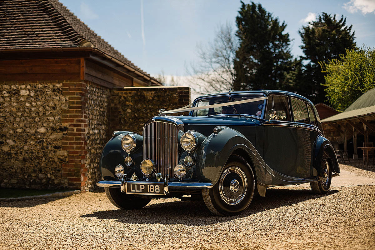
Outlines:
{"type": "Polygon", "coordinates": [[[365,94],[360,96],[344,112],[327,117],[322,122],[347,120],[371,114],[375,114],[375,88],[366,91],[365,94]]]}

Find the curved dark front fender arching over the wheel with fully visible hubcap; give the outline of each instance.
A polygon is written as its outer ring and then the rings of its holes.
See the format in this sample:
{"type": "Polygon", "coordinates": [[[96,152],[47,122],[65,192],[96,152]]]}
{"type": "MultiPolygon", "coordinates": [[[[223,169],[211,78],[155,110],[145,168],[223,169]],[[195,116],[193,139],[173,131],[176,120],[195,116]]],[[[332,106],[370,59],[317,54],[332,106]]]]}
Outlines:
{"type": "Polygon", "coordinates": [[[198,153],[198,179],[215,185],[229,157],[237,150],[248,154],[257,181],[263,183],[266,168],[260,154],[244,135],[229,127],[221,127],[219,132],[211,134],[202,142],[198,153]]]}

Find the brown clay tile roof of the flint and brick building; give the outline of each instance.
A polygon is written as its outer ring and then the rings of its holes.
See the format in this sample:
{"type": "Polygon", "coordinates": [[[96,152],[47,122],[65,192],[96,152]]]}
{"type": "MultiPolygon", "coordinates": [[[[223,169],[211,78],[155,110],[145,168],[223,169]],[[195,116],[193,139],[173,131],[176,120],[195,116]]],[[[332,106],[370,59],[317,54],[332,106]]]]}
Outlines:
{"type": "Polygon", "coordinates": [[[59,1],[0,1],[0,50],[73,47],[98,49],[151,77],[87,27],[59,1]]]}

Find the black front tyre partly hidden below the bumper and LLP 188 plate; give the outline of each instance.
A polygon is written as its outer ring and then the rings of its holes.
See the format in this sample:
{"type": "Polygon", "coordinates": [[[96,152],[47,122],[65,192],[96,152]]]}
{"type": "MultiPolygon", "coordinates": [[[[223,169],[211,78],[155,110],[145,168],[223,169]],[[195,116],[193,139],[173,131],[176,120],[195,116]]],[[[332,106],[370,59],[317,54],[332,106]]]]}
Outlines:
{"type": "Polygon", "coordinates": [[[142,208],[151,201],[151,199],[144,199],[121,193],[118,188],[105,187],[104,190],[113,205],[125,210],[142,208]]]}

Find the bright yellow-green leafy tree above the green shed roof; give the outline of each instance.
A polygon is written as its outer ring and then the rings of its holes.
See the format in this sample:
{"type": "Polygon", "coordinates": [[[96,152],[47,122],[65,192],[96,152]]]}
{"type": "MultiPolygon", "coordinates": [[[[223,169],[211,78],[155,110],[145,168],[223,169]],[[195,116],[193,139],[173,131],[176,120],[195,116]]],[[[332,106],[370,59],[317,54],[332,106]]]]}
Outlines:
{"type": "Polygon", "coordinates": [[[375,49],[347,49],[345,54],[322,65],[327,74],[327,97],[339,111],[344,111],[367,90],[375,88],[375,49]]]}

